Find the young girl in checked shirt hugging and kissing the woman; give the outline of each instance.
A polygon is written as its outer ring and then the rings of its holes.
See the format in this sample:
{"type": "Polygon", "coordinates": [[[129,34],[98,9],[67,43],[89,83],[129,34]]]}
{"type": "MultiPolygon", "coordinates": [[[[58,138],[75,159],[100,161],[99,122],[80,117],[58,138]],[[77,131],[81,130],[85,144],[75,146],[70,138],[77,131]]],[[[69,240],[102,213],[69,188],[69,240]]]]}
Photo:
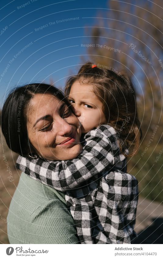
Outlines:
{"type": "Polygon", "coordinates": [[[83,153],[68,161],[19,156],[17,168],[66,191],[81,243],[132,243],[138,182],[127,174],[126,157],[138,152],[141,139],[134,87],[128,78],[86,63],[69,78],[65,93],[85,134],[83,153]]]}

